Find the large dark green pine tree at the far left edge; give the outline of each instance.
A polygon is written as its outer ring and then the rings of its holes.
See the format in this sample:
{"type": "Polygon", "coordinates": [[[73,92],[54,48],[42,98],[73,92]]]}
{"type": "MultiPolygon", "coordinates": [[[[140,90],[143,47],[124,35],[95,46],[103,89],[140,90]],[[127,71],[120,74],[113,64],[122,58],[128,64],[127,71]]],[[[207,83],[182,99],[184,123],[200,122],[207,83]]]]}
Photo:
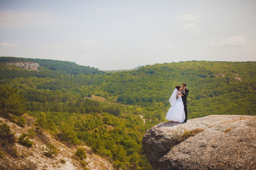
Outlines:
{"type": "Polygon", "coordinates": [[[25,112],[25,100],[17,89],[9,85],[0,84],[0,113],[21,115],[25,112]]]}

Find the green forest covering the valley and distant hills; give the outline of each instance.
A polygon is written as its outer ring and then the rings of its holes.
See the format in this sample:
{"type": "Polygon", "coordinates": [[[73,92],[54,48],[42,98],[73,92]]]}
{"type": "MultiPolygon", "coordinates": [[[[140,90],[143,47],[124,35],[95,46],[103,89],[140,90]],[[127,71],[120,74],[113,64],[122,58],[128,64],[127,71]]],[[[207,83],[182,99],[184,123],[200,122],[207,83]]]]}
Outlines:
{"type": "Polygon", "coordinates": [[[142,137],[168,121],[176,85],[187,83],[188,119],[256,115],[255,74],[255,62],[185,61],[105,72],[69,61],[0,57],[1,100],[15,101],[10,106],[1,102],[1,115],[9,112],[16,122],[22,122],[21,115],[32,116],[38,128],[67,145],[85,143],[115,168],[152,170],[142,137]],[[19,61],[40,67],[30,71],[7,65],[19,61]]]}

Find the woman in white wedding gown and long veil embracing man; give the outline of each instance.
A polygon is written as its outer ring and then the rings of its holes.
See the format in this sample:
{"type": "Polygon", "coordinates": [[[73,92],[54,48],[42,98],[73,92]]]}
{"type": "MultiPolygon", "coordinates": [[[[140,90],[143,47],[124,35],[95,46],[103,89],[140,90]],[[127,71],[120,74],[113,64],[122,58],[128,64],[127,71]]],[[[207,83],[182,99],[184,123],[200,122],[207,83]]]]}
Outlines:
{"type": "Polygon", "coordinates": [[[167,120],[172,120],[174,122],[182,123],[185,120],[185,111],[184,104],[182,101],[183,94],[181,94],[182,88],[177,85],[171,95],[169,102],[171,103],[171,107],[167,112],[166,118],[167,120]],[[178,95],[178,99],[176,100],[176,95],[178,95]]]}

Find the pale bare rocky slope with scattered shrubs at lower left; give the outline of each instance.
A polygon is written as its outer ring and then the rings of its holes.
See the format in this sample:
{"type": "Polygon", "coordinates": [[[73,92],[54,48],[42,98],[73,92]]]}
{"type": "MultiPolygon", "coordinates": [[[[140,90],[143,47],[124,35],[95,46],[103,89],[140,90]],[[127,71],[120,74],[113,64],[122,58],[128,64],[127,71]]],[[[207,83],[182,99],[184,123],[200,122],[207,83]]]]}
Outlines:
{"type": "MultiPolygon", "coordinates": [[[[35,128],[31,125],[19,127],[17,124],[10,122],[3,117],[0,117],[0,122],[1,125],[6,123],[10,127],[11,132],[15,135],[16,141],[22,133],[29,134],[30,128],[35,128]]],[[[2,135],[2,131],[0,133],[2,135]]],[[[18,142],[15,143],[13,148],[17,148],[17,150],[14,151],[16,152],[16,155],[10,153],[10,148],[9,151],[2,152],[4,155],[1,155],[0,158],[0,169],[113,169],[112,164],[109,161],[93,154],[88,146],[80,145],[80,147],[85,148],[87,152],[87,158],[84,160],[86,166],[83,167],[81,163],[74,158],[75,151],[79,146],[68,147],[64,143],[53,139],[52,136],[47,132],[44,132],[44,136],[35,135],[30,140],[33,142],[31,148],[23,146],[18,142]],[[54,144],[58,150],[58,154],[52,158],[49,158],[43,154],[44,151],[42,150],[42,147],[46,147],[46,143],[48,142],[54,144]]],[[[2,146],[0,146],[0,148],[1,150],[4,150],[3,148],[6,146],[3,146],[3,141],[1,141],[1,143],[2,146]]]]}

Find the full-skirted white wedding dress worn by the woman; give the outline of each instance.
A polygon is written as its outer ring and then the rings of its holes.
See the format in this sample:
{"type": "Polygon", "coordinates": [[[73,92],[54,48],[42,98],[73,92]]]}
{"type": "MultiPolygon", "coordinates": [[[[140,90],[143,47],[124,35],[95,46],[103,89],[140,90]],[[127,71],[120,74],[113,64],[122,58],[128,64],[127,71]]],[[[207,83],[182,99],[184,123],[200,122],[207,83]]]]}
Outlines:
{"type": "MultiPolygon", "coordinates": [[[[177,92],[177,94],[178,93],[181,93],[181,92],[177,92]]],[[[185,120],[184,104],[183,104],[181,95],[178,95],[178,96],[179,96],[178,99],[174,101],[173,105],[170,107],[169,111],[167,112],[165,119],[182,123],[185,120]]]]}

